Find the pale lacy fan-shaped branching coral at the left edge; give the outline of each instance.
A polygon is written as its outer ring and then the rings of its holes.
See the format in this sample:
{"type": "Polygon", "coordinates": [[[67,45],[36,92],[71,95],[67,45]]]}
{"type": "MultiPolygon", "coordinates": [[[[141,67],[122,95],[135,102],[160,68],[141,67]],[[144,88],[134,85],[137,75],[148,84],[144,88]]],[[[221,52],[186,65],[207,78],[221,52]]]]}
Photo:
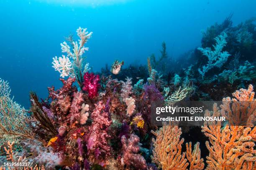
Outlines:
{"type": "Polygon", "coordinates": [[[10,98],[7,81],[0,79],[0,146],[5,141],[20,143],[22,139],[33,139],[29,129],[29,117],[26,110],[10,98]]]}

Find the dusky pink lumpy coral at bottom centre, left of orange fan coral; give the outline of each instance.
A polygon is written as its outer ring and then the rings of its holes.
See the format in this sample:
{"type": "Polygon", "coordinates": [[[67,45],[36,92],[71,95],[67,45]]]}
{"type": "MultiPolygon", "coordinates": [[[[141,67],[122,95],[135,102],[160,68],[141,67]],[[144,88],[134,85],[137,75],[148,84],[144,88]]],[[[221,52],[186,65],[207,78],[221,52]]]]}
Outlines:
{"type": "Polygon", "coordinates": [[[128,167],[132,165],[138,169],[145,170],[147,168],[146,160],[138,154],[140,138],[135,134],[131,134],[131,137],[127,140],[125,135],[123,135],[121,142],[123,144],[122,164],[128,167]]]}

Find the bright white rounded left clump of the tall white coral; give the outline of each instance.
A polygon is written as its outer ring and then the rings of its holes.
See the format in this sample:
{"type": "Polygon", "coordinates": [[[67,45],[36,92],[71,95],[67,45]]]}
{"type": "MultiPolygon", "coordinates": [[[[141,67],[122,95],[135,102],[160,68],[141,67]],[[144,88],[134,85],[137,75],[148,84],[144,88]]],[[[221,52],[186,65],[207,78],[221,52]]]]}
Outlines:
{"type": "Polygon", "coordinates": [[[54,69],[61,73],[61,77],[66,76],[72,76],[73,69],[72,69],[72,63],[70,62],[68,57],[65,57],[65,55],[62,55],[62,57],[52,58],[54,61],[52,62],[54,69]]]}

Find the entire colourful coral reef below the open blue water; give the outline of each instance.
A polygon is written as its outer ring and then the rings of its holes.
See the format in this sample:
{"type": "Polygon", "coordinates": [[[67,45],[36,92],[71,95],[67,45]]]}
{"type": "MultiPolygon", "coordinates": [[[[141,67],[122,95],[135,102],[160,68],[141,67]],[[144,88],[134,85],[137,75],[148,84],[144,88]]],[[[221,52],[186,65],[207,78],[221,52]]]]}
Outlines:
{"type": "Polygon", "coordinates": [[[92,72],[83,57],[92,32],[78,28],[79,42],[67,37],[61,43],[67,56],[54,57],[52,63],[67,79],[60,79],[59,89],[48,87],[46,99],[31,92],[30,110],[13,101],[8,82],[0,79],[1,165],[27,161],[33,164],[26,167],[30,169],[255,169],[255,28],[253,20],[234,27],[230,16],[207,28],[201,48],[181,57],[168,56],[163,42],[160,57],[151,55],[145,65],[124,67],[116,60],[100,72],[92,72]],[[233,98],[227,97],[231,94],[233,98]],[[156,102],[165,107],[182,100],[222,100],[205,116],[227,121],[208,121],[202,127],[164,122],[159,129],[152,123],[156,102]]]}

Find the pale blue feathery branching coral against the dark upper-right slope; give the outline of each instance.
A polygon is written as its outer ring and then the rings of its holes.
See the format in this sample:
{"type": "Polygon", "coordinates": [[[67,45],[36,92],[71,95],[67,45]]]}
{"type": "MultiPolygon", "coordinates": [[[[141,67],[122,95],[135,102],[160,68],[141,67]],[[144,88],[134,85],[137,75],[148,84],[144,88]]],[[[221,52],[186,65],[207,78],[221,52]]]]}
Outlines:
{"type": "Polygon", "coordinates": [[[212,69],[213,67],[221,67],[227,60],[230,54],[227,51],[223,51],[223,47],[227,44],[227,41],[225,40],[228,37],[228,35],[223,32],[223,35],[219,35],[215,38],[216,45],[213,45],[214,51],[211,50],[210,47],[206,48],[198,48],[203,55],[208,57],[208,63],[207,65],[204,65],[202,67],[202,70],[199,68],[198,71],[202,75],[202,78],[204,77],[205,73],[212,69]]]}

